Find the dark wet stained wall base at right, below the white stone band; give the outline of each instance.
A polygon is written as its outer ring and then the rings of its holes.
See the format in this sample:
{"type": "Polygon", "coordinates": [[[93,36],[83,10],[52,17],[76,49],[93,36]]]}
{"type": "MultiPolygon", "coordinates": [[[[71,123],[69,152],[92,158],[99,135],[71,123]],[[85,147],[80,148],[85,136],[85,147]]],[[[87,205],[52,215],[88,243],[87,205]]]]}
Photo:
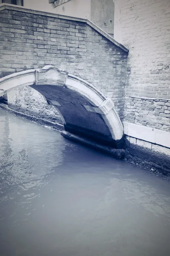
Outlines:
{"type": "Polygon", "coordinates": [[[125,160],[170,179],[170,156],[166,154],[131,144],[126,140],[125,160]]]}

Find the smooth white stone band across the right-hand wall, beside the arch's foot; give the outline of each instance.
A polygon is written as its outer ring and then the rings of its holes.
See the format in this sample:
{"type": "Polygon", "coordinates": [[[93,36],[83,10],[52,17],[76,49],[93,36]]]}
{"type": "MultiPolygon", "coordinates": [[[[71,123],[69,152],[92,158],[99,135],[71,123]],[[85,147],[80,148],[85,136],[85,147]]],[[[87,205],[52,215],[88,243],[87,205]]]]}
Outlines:
{"type": "Polygon", "coordinates": [[[123,125],[127,136],[170,148],[170,132],[129,122],[124,122],[123,125]]]}

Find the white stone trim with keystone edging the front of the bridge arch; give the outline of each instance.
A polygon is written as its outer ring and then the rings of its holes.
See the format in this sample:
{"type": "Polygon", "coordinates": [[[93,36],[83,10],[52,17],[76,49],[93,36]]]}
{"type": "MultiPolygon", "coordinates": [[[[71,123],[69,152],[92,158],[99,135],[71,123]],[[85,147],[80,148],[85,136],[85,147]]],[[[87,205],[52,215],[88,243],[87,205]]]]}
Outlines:
{"type": "Polygon", "coordinates": [[[121,140],[123,126],[119,119],[114,104],[110,98],[106,98],[99,90],[87,81],[59,70],[54,66],[45,66],[42,69],[25,70],[5,76],[0,79],[0,96],[10,92],[14,88],[30,85],[55,85],[67,87],[88,99],[93,106],[84,105],[90,112],[99,113],[105,120],[111,132],[113,140],[121,140]]]}

